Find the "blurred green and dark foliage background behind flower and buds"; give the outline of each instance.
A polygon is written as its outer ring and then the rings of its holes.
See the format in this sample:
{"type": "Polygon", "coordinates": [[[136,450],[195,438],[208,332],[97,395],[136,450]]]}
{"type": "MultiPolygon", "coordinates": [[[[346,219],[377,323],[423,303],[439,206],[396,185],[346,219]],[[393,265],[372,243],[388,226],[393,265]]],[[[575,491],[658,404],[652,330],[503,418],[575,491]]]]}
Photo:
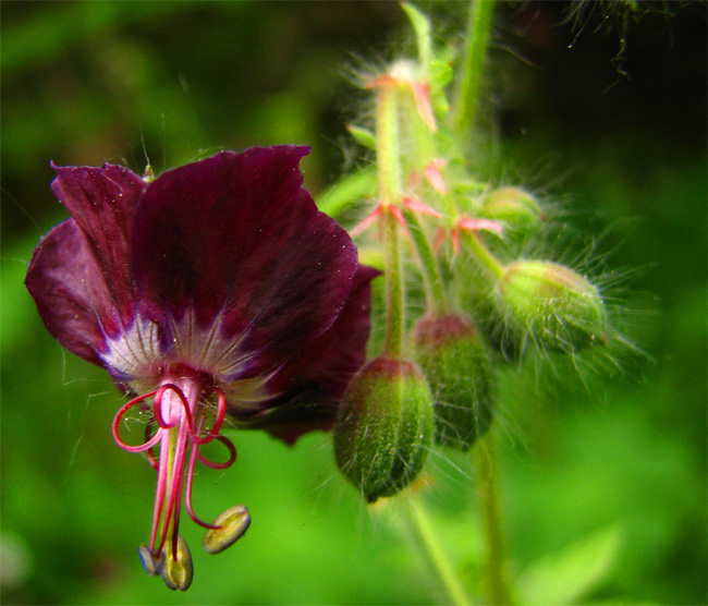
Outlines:
{"type": "MultiPolygon", "coordinates": [[[[649,354],[589,395],[572,384],[546,389],[530,374],[502,377],[510,574],[523,578],[610,529],[619,546],[607,574],[575,599],[705,604],[706,10],[657,2],[606,17],[609,4],[585,3],[579,22],[565,2],[502,4],[497,15],[486,96],[498,117],[499,175],[570,197],[581,225],[585,216],[610,226],[608,264],[630,270],[632,338],[649,354]]],[[[423,8],[453,33],[464,4],[423,8]]],[[[120,397],[106,374],[62,351],[23,287],[32,250],[65,217],[49,191],[50,159],[141,172],[145,149],[159,172],[224,147],[307,144],[307,186],[326,191],[352,160],[344,124],[361,95],[347,75],[400,49],[391,43],[405,25],[399,7],[0,10],[2,603],[439,602],[405,525],[392,507],[367,511],[338,475],[325,434],[295,448],[232,435],[239,462],[196,478],[195,507],[211,518],[245,502],[248,535],[211,557],[185,520],[192,589],[174,594],[147,578],[135,549],[149,532],[155,474],[112,443],[120,397]]],[[[455,565],[474,578],[472,463],[448,452],[434,460],[427,506],[455,565]]]]}

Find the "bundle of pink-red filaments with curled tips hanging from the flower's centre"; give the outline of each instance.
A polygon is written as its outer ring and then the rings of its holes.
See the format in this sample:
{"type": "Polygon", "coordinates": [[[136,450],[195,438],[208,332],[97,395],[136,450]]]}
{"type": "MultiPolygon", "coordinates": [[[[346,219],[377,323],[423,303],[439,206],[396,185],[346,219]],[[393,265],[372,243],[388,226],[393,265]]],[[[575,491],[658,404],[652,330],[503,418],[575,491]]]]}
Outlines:
{"type": "Polygon", "coordinates": [[[148,549],[156,558],[162,553],[168,538],[171,541],[172,557],[176,558],[183,488],[185,507],[190,518],[206,529],[219,530],[221,528],[205,522],[194,512],[192,505],[194,468],[197,459],[203,464],[219,470],[231,466],[236,460],[235,446],[229,438],[219,435],[227,413],[225,395],[219,388],[206,393],[206,396],[209,396],[209,393],[216,391],[217,411],[211,428],[202,435],[205,417],[200,414],[197,402],[199,386],[191,384],[190,387],[192,387],[193,391],[192,398],[185,396],[179,386],[171,383],[163,384],[152,391],[138,396],[121,407],[112,424],[113,438],[118,446],[129,452],[147,451],[150,464],[158,472],[152,529],[148,544],[148,549]],[[169,401],[163,402],[163,398],[168,395],[169,401]],[[149,423],[145,429],[145,443],[137,446],[129,445],[120,437],[121,421],[129,410],[150,397],[154,397],[152,415],[158,428],[155,435],[150,435],[154,424],[149,423]],[[176,398],[176,401],[174,398],[176,398]],[[192,405],[191,400],[193,401],[192,405]],[[167,410],[163,410],[164,407],[167,407],[167,410]],[[197,419],[196,423],[195,416],[197,419]],[[223,463],[210,461],[199,452],[199,446],[209,444],[215,439],[224,444],[229,449],[229,459],[223,463]],[[160,443],[159,458],[154,452],[154,448],[158,443],[160,443]]]}

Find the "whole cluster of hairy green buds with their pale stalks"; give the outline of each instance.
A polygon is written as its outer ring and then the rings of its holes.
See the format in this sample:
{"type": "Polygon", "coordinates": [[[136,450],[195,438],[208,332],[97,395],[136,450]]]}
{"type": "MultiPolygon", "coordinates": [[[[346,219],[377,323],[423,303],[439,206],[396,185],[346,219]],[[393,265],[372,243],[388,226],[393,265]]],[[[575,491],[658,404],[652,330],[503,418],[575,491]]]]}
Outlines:
{"type": "Polygon", "coordinates": [[[418,57],[364,78],[375,123],[350,128],[375,154],[376,178],[363,169],[322,201],[334,214],[350,202],[377,201],[351,233],[364,255],[384,252],[386,339],[371,343],[382,353],[354,380],[334,429],[337,462],[369,502],[408,485],[432,444],[467,451],[485,435],[495,363],[530,347],[575,355],[603,343],[608,330],[591,281],[523,255],[549,217],[525,189],[475,175],[468,132],[459,126],[465,121],[455,120],[449,97],[460,88],[455,58],[435,48],[425,15],[403,8],[418,57]],[[403,263],[408,253],[413,263],[403,263]],[[404,293],[416,279],[425,296],[417,318],[411,312],[420,302],[405,304],[416,295],[404,293]],[[500,332],[515,347],[503,347],[500,332]]]}

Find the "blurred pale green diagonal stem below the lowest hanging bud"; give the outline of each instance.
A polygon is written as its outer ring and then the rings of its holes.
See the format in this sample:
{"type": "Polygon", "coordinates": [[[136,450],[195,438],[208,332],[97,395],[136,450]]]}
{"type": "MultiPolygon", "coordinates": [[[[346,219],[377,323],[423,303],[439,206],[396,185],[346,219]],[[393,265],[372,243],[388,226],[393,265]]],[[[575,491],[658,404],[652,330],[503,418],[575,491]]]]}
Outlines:
{"type": "Polygon", "coordinates": [[[418,544],[448,593],[450,604],[469,606],[472,602],[467,597],[467,592],[457,578],[452,562],[438,541],[428,511],[417,496],[412,493],[408,504],[411,521],[418,544]]]}

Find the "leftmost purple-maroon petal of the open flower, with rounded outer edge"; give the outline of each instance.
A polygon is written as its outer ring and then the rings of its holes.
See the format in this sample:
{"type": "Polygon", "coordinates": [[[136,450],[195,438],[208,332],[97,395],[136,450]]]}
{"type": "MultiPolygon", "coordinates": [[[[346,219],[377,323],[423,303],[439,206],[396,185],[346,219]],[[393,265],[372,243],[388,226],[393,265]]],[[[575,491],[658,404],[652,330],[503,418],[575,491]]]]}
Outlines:
{"type": "Polygon", "coordinates": [[[115,312],[101,268],[73,219],[54,227],[35,250],[27,290],[47,329],[68,350],[101,364],[103,330],[117,330],[115,312]]]}

